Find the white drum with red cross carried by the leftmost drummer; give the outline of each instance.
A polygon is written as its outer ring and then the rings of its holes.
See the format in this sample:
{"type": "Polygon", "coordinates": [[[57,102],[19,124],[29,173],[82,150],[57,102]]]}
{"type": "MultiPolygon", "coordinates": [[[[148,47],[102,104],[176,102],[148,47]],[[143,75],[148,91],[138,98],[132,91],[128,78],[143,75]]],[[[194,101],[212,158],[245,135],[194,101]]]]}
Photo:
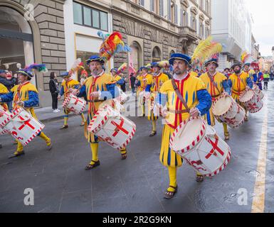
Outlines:
{"type": "Polygon", "coordinates": [[[11,114],[3,114],[0,126],[23,145],[30,143],[45,127],[23,108],[16,109],[11,114]]]}

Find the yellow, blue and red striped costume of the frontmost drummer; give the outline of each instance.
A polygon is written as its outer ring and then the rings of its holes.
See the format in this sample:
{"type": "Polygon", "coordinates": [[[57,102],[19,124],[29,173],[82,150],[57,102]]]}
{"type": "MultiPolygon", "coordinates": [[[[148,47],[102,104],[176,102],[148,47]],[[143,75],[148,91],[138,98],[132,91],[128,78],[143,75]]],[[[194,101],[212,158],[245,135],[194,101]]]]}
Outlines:
{"type": "MultiPolygon", "coordinates": [[[[189,74],[181,81],[175,79],[175,82],[189,109],[196,107],[199,109],[201,116],[206,114],[206,111],[209,111],[211,107],[211,96],[209,92],[206,91],[204,82],[202,82],[201,79],[189,74]]],[[[166,124],[162,131],[162,146],[159,160],[164,166],[180,167],[182,165],[181,156],[177,155],[174,150],[169,147],[169,140],[177,126],[189,118],[189,113],[177,114],[178,111],[186,111],[186,108],[176,95],[172,86],[172,80],[168,80],[162,85],[157,95],[157,104],[161,104],[162,106],[167,105],[168,111],[165,117],[166,124]]]]}

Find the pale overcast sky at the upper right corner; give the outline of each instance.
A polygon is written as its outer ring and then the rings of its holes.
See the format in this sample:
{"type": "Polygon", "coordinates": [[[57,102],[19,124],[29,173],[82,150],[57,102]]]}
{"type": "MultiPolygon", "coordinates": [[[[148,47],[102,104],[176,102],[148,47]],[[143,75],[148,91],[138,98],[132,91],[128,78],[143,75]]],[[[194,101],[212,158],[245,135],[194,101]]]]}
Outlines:
{"type": "Polygon", "coordinates": [[[274,46],[274,1],[246,0],[246,4],[253,17],[253,34],[260,44],[260,54],[270,56],[274,46]]]}

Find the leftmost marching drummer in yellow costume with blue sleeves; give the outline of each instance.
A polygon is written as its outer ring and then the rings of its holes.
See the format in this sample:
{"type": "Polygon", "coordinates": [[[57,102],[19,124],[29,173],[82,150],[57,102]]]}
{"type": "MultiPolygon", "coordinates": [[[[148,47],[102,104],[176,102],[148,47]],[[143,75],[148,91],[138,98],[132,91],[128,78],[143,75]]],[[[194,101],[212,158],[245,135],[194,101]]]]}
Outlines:
{"type": "MultiPolygon", "coordinates": [[[[11,92],[8,94],[1,95],[0,102],[14,101],[14,109],[23,107],[31,114],[31,116],[33,116],[33,118],[37,119],[37,116],[34,112],[34,106],[39,104],[39,98],[36,87],[30,82],[33,74],[27,70],[20,70],[17,73],[19,85],[13,87],[11,92]]],[[[38,135],[46,141],[46,150],[51,150],[51,138],[48,138],[43,132],[39,133],[38,135]]],[[[11,157],[18,157],[24,154],[23,145],[17,141],[17,150],[11,157]]]]}

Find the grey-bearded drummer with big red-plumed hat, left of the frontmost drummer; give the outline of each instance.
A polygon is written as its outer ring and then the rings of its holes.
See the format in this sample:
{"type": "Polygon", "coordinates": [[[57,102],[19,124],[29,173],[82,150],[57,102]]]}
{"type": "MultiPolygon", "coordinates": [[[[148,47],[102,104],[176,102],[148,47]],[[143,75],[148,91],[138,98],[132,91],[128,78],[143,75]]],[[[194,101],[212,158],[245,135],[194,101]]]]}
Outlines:
{"type": "MultiPolygon", "coordinates": [[[[88,67],[90,67],[91,76],[85,81],[80,91],[76,89],[70,89],[70,92],[78,94],[79,97],[86,96],[88,99],[88,118],[87,123],[93,119],[93,116],[97,113],[100,105],[105,102],[112,106],[112,99],[119,96],[119,90],[116,86],[116,82],[110,74],[106,74],[105,70],[102,70],[102,66],[105,62],[98,55],[91,56],[86,60],[88,67]]],[[[88,143],[90,143],[90,149],[92,153],[92,160],[85,167],[85,170],[91,170],[100,165],[98,158],[98,145],[100,139],[93,133],[88,132],[88,143]]],[[[127,150],[123,148],[120,150],[122,160],[127,157],[127,150]]]]}

